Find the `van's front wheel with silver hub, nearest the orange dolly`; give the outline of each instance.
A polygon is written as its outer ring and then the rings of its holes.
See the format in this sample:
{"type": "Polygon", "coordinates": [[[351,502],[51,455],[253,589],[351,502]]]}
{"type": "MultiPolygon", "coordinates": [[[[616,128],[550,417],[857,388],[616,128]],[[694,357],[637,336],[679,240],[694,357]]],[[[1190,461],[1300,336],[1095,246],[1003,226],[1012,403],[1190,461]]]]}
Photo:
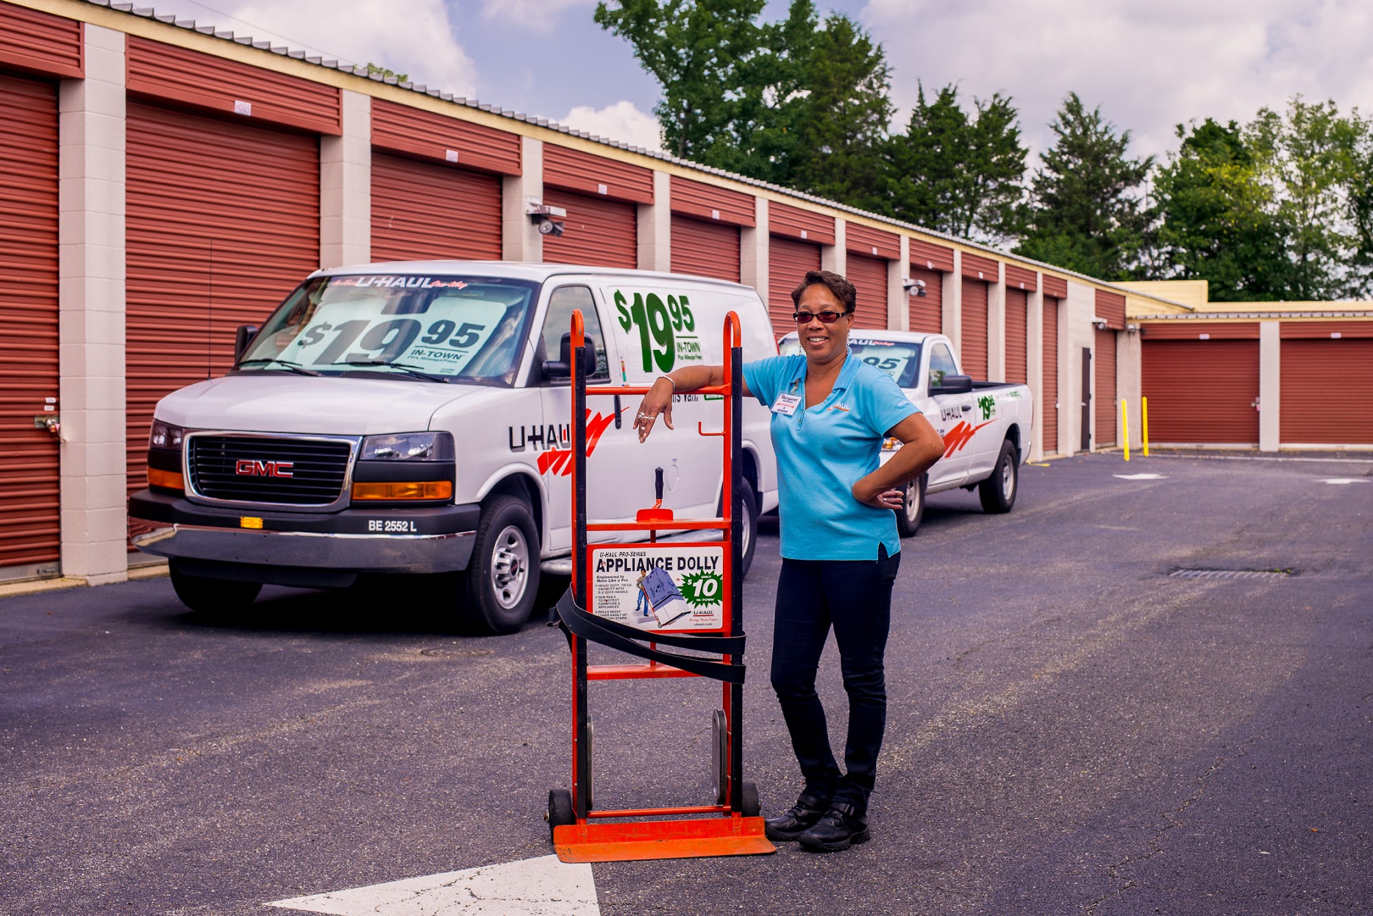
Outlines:
{"type": "Polygon", "coordinates": [[[490,634],[524,625],[538,595],[538,528],[523,499],[496,496],[482,510],[463,576],[464,612],[490,634]]]}

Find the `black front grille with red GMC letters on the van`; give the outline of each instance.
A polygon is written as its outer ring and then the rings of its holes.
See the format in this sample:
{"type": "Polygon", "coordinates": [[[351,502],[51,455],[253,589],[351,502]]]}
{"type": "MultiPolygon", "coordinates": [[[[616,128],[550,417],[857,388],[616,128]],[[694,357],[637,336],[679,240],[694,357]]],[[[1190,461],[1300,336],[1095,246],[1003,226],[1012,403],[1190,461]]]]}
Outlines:
{"type": "Polygon", "coordinates": [[[347,440],[276,436],[192,436],[187,470],[192,491],[207,499],[328,506],[343,496],[353,444],[347,440]],[[290,462],[290,477],[239,473],[239,462],[290,462]]]}

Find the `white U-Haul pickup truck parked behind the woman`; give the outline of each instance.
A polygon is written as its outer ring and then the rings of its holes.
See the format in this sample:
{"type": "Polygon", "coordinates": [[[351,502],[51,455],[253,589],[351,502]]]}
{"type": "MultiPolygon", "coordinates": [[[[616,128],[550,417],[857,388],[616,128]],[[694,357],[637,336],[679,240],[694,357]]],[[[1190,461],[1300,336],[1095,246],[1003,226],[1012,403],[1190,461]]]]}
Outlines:
{"type": "MultiPolygon", "coordinates": [[[[777,348],[783,355],[796,354],[800,343],[789,333],[777,348]]],[[[943,458],[906,484],[905,506],[897,513],[902,538],[920,528],[925,495],[943,490],[976,487],[986,511],[1011,511],[1034,418],[1028,387],[973,381],[962,374],[953,343],[943,335],[854,330],[849,351],[891,376],[945,440],[943,458]]],[[[883,462],[899,447],[898,440],[888,439],[883,462]]]]}

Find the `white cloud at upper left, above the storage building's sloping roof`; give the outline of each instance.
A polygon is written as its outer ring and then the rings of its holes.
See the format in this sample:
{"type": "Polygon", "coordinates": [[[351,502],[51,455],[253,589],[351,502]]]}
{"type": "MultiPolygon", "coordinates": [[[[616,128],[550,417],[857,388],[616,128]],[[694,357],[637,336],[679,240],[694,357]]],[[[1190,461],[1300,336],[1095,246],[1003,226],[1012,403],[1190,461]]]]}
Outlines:
{"type": "Polygon", "coordinates": [[[240,36],[345,63],[371,62],[457,96],[476,95],[476,66],[453,37],[443,0],[408,0],[404,15],[390,0],[221,0],[214,5],[222,15],[196,5],[195,0],[169,0],[158,12],[184,7],[199,22],[240,36]]]}

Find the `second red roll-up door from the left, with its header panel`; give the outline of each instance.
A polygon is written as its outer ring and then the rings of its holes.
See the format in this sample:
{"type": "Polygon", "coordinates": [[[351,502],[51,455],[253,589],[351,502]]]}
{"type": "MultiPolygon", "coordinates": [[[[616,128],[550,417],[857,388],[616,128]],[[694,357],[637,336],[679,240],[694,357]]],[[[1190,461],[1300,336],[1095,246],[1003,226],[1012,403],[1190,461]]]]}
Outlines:
{"type": "Polygon", "coordinates": [[[158,399],[222,374],[235,328],[319,267],[319,134],[339,130],[339,92],[135,36],[128,71],[133,491],[158,399]]]}

